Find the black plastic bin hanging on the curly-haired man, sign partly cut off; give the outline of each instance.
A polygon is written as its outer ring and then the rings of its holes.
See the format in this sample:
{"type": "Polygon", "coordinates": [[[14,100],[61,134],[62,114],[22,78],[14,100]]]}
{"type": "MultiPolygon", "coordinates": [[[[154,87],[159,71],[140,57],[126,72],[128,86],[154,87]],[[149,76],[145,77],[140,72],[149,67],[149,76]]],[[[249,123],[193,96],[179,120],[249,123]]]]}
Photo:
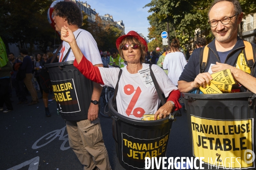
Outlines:
{"type": "Polygon", "coordinates": [[[73,61],[46,64],[52,90],[63,119],[87,119],[93,82],[74,67],[73,61]]]}

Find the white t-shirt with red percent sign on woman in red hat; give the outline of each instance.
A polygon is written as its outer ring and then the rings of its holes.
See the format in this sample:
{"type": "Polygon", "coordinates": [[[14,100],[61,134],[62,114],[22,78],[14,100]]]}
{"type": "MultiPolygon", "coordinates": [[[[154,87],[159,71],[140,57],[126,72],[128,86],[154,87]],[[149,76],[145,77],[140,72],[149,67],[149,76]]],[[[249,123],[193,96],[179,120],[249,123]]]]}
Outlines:
{"type": "MultiPolygon", "coordinates": [[[[143,63],[143,68],[136,74],[130,74],[127,66],[122,68],[116,96],[117,110],[120,114],[132,119],[141,120],[143,114],[154,114],[160,99],[150,76],[149,64],[143,63]]],[[[177,87],[167,77],[162,68],[152,65],[152,71],[160,86],[160,90],[168,97],[177,87]]],[[[99,67],[100,74],[106,86],[115,88],[118,80],[119,68],[99,67]]]]}

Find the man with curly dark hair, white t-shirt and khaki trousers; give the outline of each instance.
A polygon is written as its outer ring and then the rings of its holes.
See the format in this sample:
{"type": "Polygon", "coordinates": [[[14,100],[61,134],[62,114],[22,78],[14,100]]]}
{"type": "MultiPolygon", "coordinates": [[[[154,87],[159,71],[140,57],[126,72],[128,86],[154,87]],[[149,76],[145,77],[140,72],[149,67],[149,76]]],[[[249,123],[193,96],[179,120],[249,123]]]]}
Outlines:
{"type": "MultiPolygon", "coordinates": [[[[82,13],[76,3],[71,0],[64,0],[56,3],[54,9],[52,19],[54,20],[56,31],[61,31],[63,27],[70,28],[76,36],[77,45],[84,56],[94,66],[103,67],[99,49],[93,36],[88,31],[79,28],[82,25],[82,13]]],[[[68,53],[69,48],[70,45],[67,42],[62,43],[59,62],[73,61],[75,59],[72,50],[68,53]],[[66,54],[67,58],[64,60],[66,54]]],[[[94,83],[90,107],[88,112],[84,113],[85,115],[87,114],[87,119],[79,118],[80,115],[76,115],[76,121],[66,121],[70,147],[76,153],[81,164],[84,165],[84,170],[111,170],[98,118],[98,101],[101,91],[102,87],[94,83]]]]}

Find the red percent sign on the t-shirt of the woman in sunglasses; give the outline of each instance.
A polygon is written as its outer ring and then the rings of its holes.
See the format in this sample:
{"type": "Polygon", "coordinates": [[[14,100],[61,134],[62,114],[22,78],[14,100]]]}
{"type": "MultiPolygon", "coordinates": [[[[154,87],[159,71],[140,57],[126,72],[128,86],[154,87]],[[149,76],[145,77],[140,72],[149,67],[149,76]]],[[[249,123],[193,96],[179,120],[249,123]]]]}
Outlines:
{"type": "MultiPolygon", "coordinates": [[[[140,87],[138,86],[136,90],[134,90],[134,86],[133,85],[125,85],[124,87],[124,91],[125,91],[125,94],[127,95],[131,95],[135,92],[134,96],[132,96],[131,98],[131,102],[129,103],[128,105],[128,108],[127,110],[125,111],[125,113],[130,116],[131,115],[131,111],[134,109],[134,106],[135,104],[137,103],[138,99],[139,99],[139,96],[141,94],[141,89],[140,87]]],[[[135,108],[134,111],[133,111],[133,115],[135,117],[142,117],[144,115],[145,111],[143,108],[135,108]],[[140,113],[138,113],[140,112],[140,113]]]]}

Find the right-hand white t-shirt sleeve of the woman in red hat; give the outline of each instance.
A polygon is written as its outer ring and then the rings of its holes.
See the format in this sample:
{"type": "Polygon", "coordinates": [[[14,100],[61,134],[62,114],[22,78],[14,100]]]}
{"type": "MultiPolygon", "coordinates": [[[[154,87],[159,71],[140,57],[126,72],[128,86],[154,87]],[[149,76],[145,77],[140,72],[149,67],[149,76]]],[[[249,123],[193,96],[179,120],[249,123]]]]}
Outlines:
{"type": "Polygon", "coordinates": [[[177,90],[178,88],[172,83],[171,79],[166,75],[162,68],[158,65],[152,65],[152,71],[157,79],[158,85],[165,95],[168,97],[171,91],[177,90]]]}

